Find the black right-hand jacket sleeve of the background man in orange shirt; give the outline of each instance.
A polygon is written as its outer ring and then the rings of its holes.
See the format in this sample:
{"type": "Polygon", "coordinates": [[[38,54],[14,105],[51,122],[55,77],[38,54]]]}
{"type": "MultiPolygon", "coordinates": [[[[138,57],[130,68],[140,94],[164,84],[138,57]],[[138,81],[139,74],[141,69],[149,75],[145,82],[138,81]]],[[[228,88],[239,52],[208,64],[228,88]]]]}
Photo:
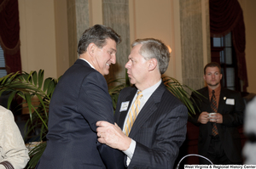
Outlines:
{"type": "Polygon", "coordinates": [[[240,93],[233,92],[232,95],[231,98],[235,99],[235,104],[225,105],[226,109],[222,113],[223,125],[227,127],[238,127],[243,124],[245,104],[240,93]]]}

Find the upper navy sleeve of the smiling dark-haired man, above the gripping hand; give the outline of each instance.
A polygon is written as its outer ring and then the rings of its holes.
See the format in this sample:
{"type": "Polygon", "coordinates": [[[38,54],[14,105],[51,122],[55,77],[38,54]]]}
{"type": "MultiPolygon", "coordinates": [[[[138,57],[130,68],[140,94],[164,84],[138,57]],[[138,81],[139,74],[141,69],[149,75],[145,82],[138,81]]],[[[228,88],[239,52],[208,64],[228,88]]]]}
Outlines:
{"type": "Polygon", "coordinates": [[[96,121],[108,121],[113,124],[112,100],[108,93],[105,78],[98,72],[84,78],[79,92],[79,112],[96,132],[96,121]]]}

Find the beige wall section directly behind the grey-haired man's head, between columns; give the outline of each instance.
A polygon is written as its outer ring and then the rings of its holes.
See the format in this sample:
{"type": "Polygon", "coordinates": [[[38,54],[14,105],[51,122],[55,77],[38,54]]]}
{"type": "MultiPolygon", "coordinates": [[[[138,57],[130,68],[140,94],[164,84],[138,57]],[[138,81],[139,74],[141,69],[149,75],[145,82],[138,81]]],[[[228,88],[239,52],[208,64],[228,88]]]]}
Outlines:
{"type": "Polygon", "coordinates": [[[172,48],[166,76],[182,80],[179,3],[170,0],[130,0],[131,42],[137,38],[154,37],[172,48]],[[147,4],[147,5],[145,5],[147,4]]]}

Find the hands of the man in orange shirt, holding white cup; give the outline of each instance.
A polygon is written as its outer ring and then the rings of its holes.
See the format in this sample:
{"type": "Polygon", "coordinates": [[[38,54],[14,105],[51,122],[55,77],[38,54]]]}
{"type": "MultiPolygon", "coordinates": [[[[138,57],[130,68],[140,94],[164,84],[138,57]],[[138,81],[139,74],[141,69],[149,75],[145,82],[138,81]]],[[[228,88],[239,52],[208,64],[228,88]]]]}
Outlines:
{"type": "Polygon", "coordinates": [[[216,123],[223,123],[223,116],[220,113],[210,115],[210,113],[208,113],[207,111],[203,111],[199,115],[198,121],[201,122],[201,124],[207,124],[208,121],[216,122],[216,123]]]}

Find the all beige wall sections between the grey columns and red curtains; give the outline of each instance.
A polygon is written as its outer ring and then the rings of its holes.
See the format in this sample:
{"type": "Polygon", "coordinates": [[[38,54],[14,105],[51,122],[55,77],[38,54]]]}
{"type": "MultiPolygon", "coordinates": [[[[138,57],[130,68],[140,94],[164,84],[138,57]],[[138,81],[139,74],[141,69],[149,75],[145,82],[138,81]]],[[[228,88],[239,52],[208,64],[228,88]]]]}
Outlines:
{"type": "MultiPolygon", "coordinates": [[[[131,42],[137,38],[159,38],[172,48],[166,76],[182,80],[179,3],[177,0],[129,0],[131,42]],[[146,5],[145,5],[146,4],[146,5]]],[[[205,10],[202,2],[202,11],[205,10]]],[[[256,72],[253,48],[256,43],[256,1],[239,0],[246,25],[248,92],[256,93],[256,72]]],[[[102,0],[90,0],[90,25],[102,24],[102,0]]],[[[45,77],[59,77],[68,68],[67,4],[64,0],[19,0],[22,69],[45,70],[45,77]],[[63,3],[65,2],[65,3],[63,3]]],[[[202,12],[204,14],[204,12],[202,12]]],[[[203,38],[207,35],[202,16],[203,38]]],[[[207,64],[207,46],[203,47],[207,64]]]]}

